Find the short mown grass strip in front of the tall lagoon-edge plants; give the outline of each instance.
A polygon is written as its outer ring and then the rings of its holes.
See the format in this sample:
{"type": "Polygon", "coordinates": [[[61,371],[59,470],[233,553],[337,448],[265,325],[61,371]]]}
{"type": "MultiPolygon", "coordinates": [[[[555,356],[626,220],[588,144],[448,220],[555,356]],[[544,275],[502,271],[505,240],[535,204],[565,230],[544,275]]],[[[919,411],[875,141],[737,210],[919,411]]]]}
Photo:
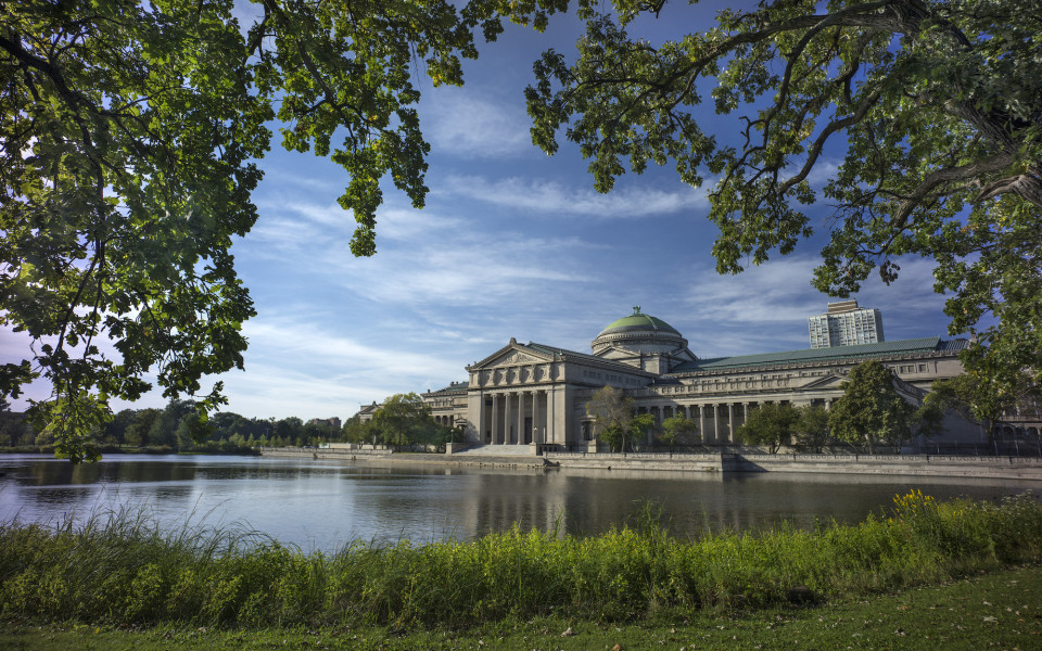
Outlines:
{"type": "Polygon", "coordinates": [[[260,629],[160,625],[0,623],[0,649],[116,651],[357,649],[670,651],[762,649],[973,650],[1042,648],[1042,567],[1028,566],[918,587],[895,595],[747,612],[618,624],[577,617],[504,621],[466,630],[403,634],[387,627],[260,629]],[[568,628],[575,635],[562,637],[568,628]]]}

